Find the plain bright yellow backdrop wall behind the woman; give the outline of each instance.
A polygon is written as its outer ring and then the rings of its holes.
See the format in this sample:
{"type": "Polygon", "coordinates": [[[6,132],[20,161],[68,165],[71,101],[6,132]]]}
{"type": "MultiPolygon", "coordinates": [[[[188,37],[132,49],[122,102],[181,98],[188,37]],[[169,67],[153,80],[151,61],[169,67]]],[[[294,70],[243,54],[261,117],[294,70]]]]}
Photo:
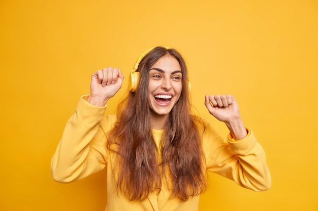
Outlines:
{"type": "Polygon", "coordinates": [[[210,174],[200,210],[317,210],[318,2],[0,1],[0,210],[104,210],[105,172],[72,184],[50,159],[90,75],[165,45],[185,57],[198,112],[232,94],[264,147],[272,188],[256,193],[210,174]]]}

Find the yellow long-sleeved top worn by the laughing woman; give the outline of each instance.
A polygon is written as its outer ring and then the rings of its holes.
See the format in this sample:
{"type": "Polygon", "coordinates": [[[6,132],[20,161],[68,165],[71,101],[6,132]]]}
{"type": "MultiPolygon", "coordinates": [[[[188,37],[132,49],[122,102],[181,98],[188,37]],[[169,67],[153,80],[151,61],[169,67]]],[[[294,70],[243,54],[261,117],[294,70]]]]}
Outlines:
{"type": "MultiPolygon", "coordinates": [[[[107,106],[96,107],[82,97],[75,113],[69,119],[51,162],[52,178],[60,183],[70,183],[103,170],[107,166],[106,210],[198,210],[199,196],[185,202],[169,199],[170,191],[163,182],[160,192],[152,193],[144,201],[130,201],[117,193],[114,180],[114,153],[106,147],[105,134],[112,128],[116,115],[104,113],[107,106]]],[[[242,187],[264,191],[271,186],[271,177],[263,148],[248,129],[243,140],[234,141],[229,134],[227,141],[220,138],[206,121],[202,144],[206,170],[234,180],[242,187]]],[[[152,130],[158,146],[163,131],[152,130]]]]}

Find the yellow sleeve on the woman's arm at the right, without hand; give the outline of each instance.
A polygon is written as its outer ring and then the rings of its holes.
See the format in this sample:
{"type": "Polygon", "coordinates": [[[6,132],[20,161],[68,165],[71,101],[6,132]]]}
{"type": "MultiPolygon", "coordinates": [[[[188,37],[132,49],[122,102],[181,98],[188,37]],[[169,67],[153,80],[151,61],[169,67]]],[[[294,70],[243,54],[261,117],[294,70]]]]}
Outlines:
{"type": "Polygon", "coordinates": [[[271,176],[262,146],[247,129],[243,140],[220,138],[210,125],[203,135],[207,171],[219,174],[238,185],[253,191],[265,191],[271,187],[271,176]]]}

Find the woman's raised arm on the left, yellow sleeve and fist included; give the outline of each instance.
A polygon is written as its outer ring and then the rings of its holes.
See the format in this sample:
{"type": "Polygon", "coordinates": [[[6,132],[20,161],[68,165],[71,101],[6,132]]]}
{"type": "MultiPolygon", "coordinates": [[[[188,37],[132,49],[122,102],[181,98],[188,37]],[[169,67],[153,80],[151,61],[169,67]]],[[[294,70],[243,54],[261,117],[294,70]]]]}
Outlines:
{"type": "Polygon", "coordinates": [[[51,174],[55,181],[76,181],[105,167],[105,133],[110,130],[114,117],[108,115],[104,118],[107,123],[103,123],[103,128],[100,124],[107,107],[105,104],[120,89],[122,79],[120,71],[112,68],[92,75],[91,93],[81,98],[52,157],[51,174]],[[117,74],[115,82],[108,83],[113,78],[106,78],[105,74],[110,76],[114,72],[117,74]]]}

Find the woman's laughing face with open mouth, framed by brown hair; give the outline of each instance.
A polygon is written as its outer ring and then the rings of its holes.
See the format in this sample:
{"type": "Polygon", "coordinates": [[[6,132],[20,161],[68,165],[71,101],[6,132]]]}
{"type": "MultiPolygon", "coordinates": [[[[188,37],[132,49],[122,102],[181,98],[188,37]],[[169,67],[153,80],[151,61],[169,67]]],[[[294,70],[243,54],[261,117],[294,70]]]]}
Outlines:
{"type": "Polygon", "coordinates": [[[182,71],[179,62],[173,56],[161,57],[149,71],[148,100],[153,124],[167,119],[181,91],[182,71]]]}

